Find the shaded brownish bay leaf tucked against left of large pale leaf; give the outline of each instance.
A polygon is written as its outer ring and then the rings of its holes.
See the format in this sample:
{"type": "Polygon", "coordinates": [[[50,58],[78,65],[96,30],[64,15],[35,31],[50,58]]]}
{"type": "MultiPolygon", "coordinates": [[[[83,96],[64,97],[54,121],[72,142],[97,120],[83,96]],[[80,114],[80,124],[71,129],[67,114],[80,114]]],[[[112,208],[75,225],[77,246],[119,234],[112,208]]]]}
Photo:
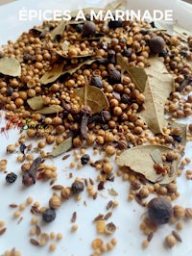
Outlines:
{"type": "Polygon", "coordinates": [[[129,77],[132,80],[132,83],[136,86],[138,90],[143,92],[147,83],[147,74],[144,68],[141,67],[131,67],[128,63],[128,60],[124,58],[121,54],[116,55],[117,64],[121,65],[122,72],[127,72],[129,77]]]}

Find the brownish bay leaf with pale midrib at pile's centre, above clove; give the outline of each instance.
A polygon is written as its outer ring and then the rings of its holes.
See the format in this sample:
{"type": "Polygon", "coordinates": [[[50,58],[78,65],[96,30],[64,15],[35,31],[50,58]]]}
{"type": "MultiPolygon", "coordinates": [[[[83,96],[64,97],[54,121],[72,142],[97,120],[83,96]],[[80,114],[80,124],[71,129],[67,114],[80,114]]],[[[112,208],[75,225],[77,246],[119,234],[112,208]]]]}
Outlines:
{"type": "Polygon", "coordinates": [[[89,106],[92,114],[108,109],[108,98],[96,87],[85,85],[84,88],[74,90],[74,96],[79,97],[80,104],[89,106]]]}

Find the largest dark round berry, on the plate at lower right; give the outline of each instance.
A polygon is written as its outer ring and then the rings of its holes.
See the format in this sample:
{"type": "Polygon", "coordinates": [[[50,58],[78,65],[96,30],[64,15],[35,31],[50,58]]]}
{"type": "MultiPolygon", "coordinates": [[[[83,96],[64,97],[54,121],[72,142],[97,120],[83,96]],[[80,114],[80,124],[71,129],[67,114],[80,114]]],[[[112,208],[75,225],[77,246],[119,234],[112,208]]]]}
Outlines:
{"type": "Polygon", "coordinates": [[[168,223],[173,215],[171,203],[165,198],[153,198],[148,204],[148,216],[155,224],[168,223]]]}

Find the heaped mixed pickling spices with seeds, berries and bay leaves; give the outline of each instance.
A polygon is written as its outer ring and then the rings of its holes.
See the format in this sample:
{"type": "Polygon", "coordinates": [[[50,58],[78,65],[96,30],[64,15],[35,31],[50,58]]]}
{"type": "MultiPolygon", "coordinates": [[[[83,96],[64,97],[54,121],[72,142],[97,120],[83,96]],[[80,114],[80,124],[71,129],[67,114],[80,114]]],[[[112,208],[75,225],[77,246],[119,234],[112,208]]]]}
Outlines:
{"type": "MultiPolygon", "coordinates": [[[[192,114],[191,61],[191,37],[170,35],[146,21],[88,20],[88,15],[86,21],[76,21],[74,16],[70,21],[44,21],[15,42],[9,40],[0,51],[0,106],[10,121],[7,128],[16,123],[22,131],[18,143],[7,147],[7,153],[18,147],[22,154],[17,158],[22,163],[21,183],[26,187],[36,186],[39,179],[54,183],[57,166],[43,162],[56,157],[65,160],[70,156],[63,156],[65,152],[77,152],[78,148],[80,154],[75,154],[70,167],[78,163],[79,169],[90,165],[99,170],[96,181],[89,179],[90,185],[86,179],[76,179],[70,188],[52,186],[60,196],[54,194],[49,208],[41,211],[32,206],[32,214],[52,222],[61,203],[72,194],[79,200],[86,187],[96,199],[94,182],[98,191],[103,191],[107,182],[122,175],[131,184],[129,199],[148,210],[140,224],[147,236],[144,248],[159,224],[191,218],[190,207],[172,206],[180,196],[177,178],[184,166],[180,167],[180,156],[192,130],[191,124],[187,128],[176,121],[192,114]],[[38,141],[36,158],[27,155],[32,145],[26,142],[32,139],[38,141]],[[48,152],[46,145],[53,149],[48,152]],[[85,153],[87,147],[95,154],[103,152],[104,158],[93,162],[85,153]],[[111,159],[119,166],[117,173],[111,159]],[[156,198],[149,201],[150,194],[156,198]]],[[[1,160],[2,170],[6,165],[7,161],[1,160]]],[[[8,173],[6,181],[13,183],[16,177],[8,173]]],[[[186,177],[191,179],[190,170],[186,177]]],[[[118,196],[114,189],[109,194],[118,196]]],[[[28,197],[27,204],[32,201],[28,197]]],[[[109,201],[107,210],[117,204],[109,201]]],[[[107,223],[111,215],[95,218],[98,235],[115,233],[115,223],[107,223]]],[[[73,224],[71,230],[77,228],[73,224]]],[[[31,243],[47,243],[49,236],[36,230],[37,240],[31,239],[31,243]]],[[[176,231],[165,238],[168,247],[176,242],[181,242],[176,231]]],[[[96,238],[92,255],[101,255],[116,243],[114,238],[108,243],[96,238]]],[[[49,248],[55,250],[56,243],[49,248]]]]}

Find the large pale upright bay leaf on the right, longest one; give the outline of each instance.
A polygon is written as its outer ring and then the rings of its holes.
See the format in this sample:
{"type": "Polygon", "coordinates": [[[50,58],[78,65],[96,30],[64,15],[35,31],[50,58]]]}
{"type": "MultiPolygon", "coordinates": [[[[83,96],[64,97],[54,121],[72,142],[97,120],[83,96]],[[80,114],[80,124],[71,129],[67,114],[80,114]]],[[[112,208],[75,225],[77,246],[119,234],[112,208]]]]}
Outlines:
{"type": "Polygon", "coordinates": [[[163,133],[162,128],[167,126],[164,105],[173,90],[173,78],[157,57],[152,57],[150,62],[151,65],[145,68],[148,83],[143,92],[145,96],[144,109],[139,113],[139,117],[155,134],[159,134],[163,133]]]}

